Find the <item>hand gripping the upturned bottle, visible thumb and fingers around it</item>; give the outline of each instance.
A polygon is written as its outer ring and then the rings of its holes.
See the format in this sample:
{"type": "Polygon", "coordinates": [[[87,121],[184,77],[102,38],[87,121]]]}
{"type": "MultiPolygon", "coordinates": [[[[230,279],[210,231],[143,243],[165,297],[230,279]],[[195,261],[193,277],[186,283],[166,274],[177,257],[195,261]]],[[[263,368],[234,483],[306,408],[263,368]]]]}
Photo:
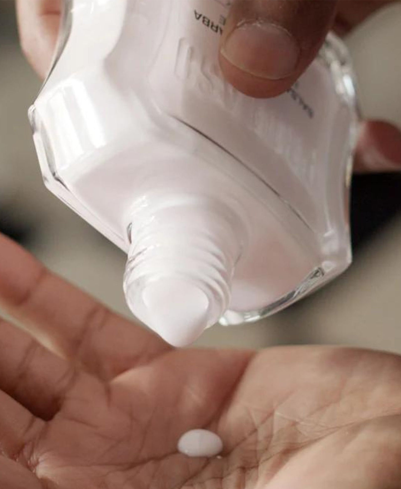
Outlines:
{"type": "MultiPolygon", "coordinates": [[[[220,65],[227,80],[244,93],[277,95],[308,67],[330,28],[346,34],[389,3],[392,1],[234,1],[221,39],[220,65]]],[[[22,49],[42,78],[54,52],[61,5],[61,0],[17,1],[22,49]]],[[[400,169],[400,130],[387,122],[366,121],[361,127],[356,168],[400,169]]]]}

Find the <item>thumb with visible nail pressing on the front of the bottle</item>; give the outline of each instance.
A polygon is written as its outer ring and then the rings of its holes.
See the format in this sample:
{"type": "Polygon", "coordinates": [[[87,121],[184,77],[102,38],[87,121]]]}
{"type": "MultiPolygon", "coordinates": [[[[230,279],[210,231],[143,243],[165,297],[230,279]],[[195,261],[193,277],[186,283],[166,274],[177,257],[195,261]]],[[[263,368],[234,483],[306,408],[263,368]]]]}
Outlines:
{"type": "Polygon", "coordinates": [[[253,97],[290,88],[315,58],[336,0],[234,0],[220,44],[225,78],[253,97]]]}

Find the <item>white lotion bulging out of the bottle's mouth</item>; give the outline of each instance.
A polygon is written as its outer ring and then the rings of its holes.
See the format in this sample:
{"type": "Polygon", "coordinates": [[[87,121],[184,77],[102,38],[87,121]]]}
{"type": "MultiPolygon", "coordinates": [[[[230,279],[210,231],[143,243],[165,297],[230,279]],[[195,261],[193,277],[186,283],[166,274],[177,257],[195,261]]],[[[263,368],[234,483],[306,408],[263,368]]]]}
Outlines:
{"type": "Polygon", "coordinates": [[[142,299],[147,310],[141,319],[170,345],[187,346],[209,326],[209,299],[186,280],[157,280],[142,292],[142,299]]]}

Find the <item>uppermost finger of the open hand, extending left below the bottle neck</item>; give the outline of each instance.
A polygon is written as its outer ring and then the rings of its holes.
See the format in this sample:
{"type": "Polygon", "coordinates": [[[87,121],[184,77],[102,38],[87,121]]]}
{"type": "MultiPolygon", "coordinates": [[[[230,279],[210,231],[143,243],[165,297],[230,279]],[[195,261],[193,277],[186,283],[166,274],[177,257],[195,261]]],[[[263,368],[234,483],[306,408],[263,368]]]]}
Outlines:
{"type": "Polygon", "coordinates": [[[103,380],[148,362],[169,347],[109,311],[0,236],[0,305],[58,355],[103,380]]]}

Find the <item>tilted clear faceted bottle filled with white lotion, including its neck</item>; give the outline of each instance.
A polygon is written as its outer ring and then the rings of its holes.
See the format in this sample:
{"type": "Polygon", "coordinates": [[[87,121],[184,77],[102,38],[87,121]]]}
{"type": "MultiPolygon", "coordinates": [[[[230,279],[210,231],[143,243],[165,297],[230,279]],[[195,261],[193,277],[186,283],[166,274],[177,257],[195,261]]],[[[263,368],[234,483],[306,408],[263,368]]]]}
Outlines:
{"type": "Polygon", "coordinates": [[[133,313],[170,343],[257,320],[351,262],[357,112],[329,35],[287,93],[222,78],[224,0],[67,2],[30,109],[47,187],[128,254],[133,313]]]}

